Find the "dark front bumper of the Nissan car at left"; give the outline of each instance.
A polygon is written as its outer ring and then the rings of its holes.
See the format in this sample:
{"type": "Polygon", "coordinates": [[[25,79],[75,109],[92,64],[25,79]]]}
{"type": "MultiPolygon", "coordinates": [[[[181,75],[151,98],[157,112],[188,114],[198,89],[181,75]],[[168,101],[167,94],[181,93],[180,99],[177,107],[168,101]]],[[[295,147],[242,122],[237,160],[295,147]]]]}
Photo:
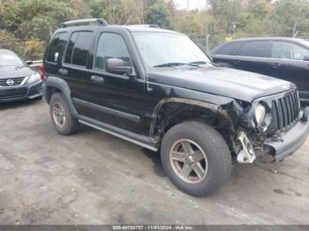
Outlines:
{"type": "Polygon", "coordinates": [[[40,98],[42,81],[17,87],[0,87],[0,102],[25,101],[40,98]]]}

